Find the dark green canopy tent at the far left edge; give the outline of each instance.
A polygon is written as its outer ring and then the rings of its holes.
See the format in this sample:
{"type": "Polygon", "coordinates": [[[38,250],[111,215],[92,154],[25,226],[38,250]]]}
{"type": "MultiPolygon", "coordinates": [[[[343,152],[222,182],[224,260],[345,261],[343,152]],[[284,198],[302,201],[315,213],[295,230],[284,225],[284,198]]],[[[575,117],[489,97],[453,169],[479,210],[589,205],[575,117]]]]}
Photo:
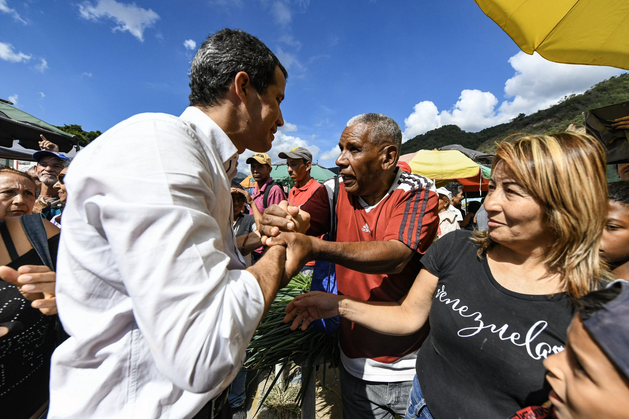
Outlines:
{"type": "MultiPolygon", "coordinates": [[[[13,141],[17,140],[24,148],[39,150],[38,143],[42,141],[40,134],[43,134],[48,141],[57,144],[62,153],[69,153],[73,148],[79,150],[79,138],[75,135],[65,133],[56,126],[9,104],[0,103],[0,147],[11,148],[13,141]]],[[[10,150],[3,151],[5,155],[10,154],[10,150]]],[[[16,159],[26,160],[23,157],[16,157],[16,159]]]]}

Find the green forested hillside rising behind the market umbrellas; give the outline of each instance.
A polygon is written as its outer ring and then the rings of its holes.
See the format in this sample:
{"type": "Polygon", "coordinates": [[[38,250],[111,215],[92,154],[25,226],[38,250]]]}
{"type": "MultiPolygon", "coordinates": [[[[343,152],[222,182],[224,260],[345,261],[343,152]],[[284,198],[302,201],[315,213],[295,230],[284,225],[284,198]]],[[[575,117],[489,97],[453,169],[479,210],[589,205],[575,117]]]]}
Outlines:
{"type": "Polygon", "coordinates": [[[444,125],[436,130],[413,137],[402,144],[402,154],[421,148],[433,149],[448,144],[460,144],[482,152],[493,152],[496,142],[515,133],[542,134],[565,131],[574,124],[583,128],[583,113],[587,109],[629,101],[629,74],[611,77],[594,85],[583,94],[566,96],[548,109],[524,115],[521,113],[509,123],[490,126],[479,132],[466,132],[456,125],[444,125]]]}

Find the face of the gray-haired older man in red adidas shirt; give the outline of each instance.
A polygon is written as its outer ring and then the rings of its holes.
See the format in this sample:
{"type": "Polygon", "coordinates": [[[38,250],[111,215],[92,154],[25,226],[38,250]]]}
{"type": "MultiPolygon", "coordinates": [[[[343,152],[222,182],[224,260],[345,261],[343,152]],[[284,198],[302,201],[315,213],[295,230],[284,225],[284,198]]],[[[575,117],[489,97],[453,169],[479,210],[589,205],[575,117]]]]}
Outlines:
{"type": "Polygon", "coordinates": [[[382,164],[387,145],[376,145],[368,140],[365,125],[355,124],[343,130],[338,147],[338,173],[343,175],[343,186],[348,194],[370,196],[381,188],[382,164]]]}

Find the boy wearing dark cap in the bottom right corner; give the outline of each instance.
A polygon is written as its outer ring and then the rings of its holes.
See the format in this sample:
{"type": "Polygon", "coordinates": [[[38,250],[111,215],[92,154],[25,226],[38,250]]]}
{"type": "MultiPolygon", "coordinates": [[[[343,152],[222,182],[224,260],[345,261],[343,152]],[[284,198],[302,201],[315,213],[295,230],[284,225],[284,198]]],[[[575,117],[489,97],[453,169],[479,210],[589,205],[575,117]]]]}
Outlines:
{"type": "Polygon", "coordinates": [[[565,350],[544,361],[553,417],[629,418],[629,282],[589,293],[579,306],[565,350]]]}

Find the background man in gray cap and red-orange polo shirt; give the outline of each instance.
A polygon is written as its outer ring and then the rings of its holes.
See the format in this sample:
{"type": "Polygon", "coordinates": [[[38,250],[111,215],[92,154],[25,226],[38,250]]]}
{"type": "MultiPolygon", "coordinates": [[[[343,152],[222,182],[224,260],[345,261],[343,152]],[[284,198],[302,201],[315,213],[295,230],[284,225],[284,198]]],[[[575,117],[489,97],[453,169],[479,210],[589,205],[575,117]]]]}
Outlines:
{"type": "Polygon", "coordinates": [[[288,193],[288,203],[301,206],[321,186],[319,182],[310,176],[313,155],[308,148],[295,147],[291,148],[291,151],[287,153],[282,152],[277,156],[280,159],[286,159],[288,174],[292,181],[295,182],[295,186],[288,193]]]}

